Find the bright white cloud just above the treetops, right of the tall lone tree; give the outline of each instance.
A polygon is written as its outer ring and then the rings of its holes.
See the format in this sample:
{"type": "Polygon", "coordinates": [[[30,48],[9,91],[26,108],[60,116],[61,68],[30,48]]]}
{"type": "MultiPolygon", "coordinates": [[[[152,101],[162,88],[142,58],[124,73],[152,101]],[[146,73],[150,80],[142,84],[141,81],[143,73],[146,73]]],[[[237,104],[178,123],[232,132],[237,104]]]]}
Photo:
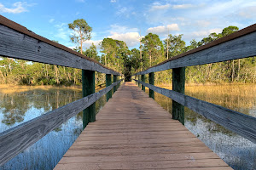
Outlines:
{"type": "Polygon", "coordinates": [[[135,47],[140,42],[140,35],[138,32],[126,32],[126,33],[113,33],[110,38],[126,42],[128,47],[135,47]]]}

